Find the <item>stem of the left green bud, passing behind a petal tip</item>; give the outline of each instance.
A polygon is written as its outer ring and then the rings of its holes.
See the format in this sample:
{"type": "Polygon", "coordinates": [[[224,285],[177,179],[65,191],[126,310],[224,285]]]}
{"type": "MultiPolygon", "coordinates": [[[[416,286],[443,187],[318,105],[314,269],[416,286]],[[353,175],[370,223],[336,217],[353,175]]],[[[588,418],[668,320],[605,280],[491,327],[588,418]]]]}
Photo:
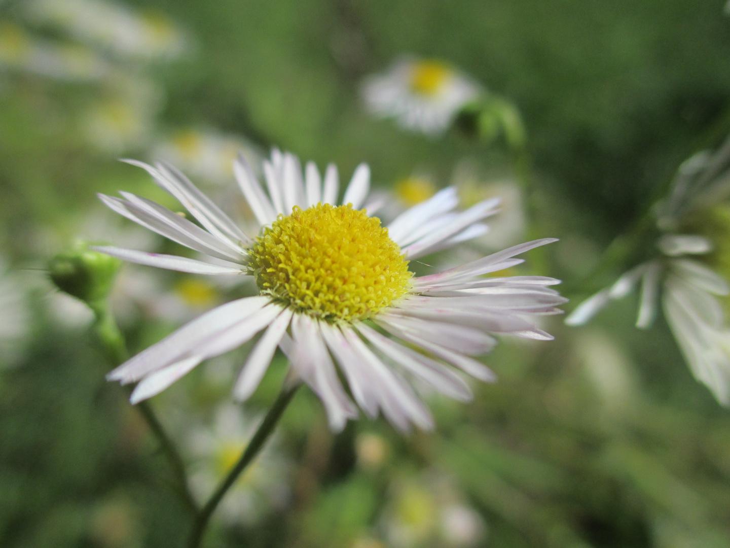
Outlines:
{"type": "MultiPolygon", "coordinates": [[[[89,303],[89,307],[96,318],[96,321],[94,321],[94,324],[91,327],[93,335],[101,344],[101,348],[107,355],[107,359],[115,365],[119,365],[126,361],[129,357],[129,352],[124,341],[124,335],[122,335],[122,332],[119,330],[117,322],[109,310],[107,302],[104,300],[101,302],[89,303]]],[[[190,491],[190,487],[188,486],[188,476],[185,473],[185,463],[183,463],[183,458],[180,457],[177,447],[169,435],[165,432],[162,423],[155,415],[155,411],[153,411],[153,408],[149,403],[143,401],[138,403],[135,407],[139,411],[139,414],[142,415],[142,419],[145,420],[150,432],[152,432],[160,444],[160,449],[172,469],[174,482],[177,484],[175,487],[178,495],[180,495],[180,498],[188,511],[190,511],[191,514],[196,515],[198,513],[198,506],[190,491]]]]}

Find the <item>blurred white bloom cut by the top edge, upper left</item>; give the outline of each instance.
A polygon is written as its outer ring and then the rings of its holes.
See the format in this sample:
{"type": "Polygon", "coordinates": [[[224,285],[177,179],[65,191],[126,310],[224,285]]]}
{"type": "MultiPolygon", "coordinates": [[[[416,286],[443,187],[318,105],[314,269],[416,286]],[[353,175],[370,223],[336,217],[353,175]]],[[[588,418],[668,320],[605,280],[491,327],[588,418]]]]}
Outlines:
{"type": "Polygon", "coordinates": [[[38,22],[65,28],[75,39],[124,58],[174,58],[187,42],[164,15],[137,12],[112,1],[32,0],[26,11],[38,22]]]}

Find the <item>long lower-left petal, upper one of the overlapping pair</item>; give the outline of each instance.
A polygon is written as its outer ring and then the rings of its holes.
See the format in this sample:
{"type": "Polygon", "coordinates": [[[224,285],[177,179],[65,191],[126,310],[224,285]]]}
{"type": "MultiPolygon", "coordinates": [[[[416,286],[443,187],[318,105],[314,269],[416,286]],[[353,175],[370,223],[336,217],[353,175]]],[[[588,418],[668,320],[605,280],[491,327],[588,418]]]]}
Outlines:
{"type": "Polygon", "coordinates": [[[107,375],[107,380],[122,384],[138,381],[147,374],[180,361],[204,341],[225,332],[270,302],[269,297],[245,297],[213,308],[158,343],[128,359],[107,375]]]}

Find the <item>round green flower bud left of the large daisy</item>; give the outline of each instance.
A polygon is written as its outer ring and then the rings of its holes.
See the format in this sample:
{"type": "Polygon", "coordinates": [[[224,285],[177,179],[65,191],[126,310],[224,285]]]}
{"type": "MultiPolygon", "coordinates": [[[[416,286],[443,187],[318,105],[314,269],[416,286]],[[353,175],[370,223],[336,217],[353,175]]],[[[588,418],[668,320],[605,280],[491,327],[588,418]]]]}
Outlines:
{"type": "Polygon", "coordinates": [[[122,262],[88,246],[77,240],[50,260],[48,272],[58,289],[93,306],[109,296],[122,262]]]}

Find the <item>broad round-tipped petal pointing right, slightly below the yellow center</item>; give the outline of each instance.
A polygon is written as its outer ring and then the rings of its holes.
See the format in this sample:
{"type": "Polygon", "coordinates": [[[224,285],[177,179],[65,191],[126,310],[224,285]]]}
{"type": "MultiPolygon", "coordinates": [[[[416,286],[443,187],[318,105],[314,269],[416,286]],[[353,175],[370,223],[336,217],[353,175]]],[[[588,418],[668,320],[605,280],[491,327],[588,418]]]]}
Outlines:
{"type": "Polygon", "coordinates": [[[375,320],[396,337],[404,338],[404,333],[407,333],[464,354],[485,354],[496,344],[496,340],[484,332],[442,321],[396,316],[393,313],[379,314],[375,320]]]}

